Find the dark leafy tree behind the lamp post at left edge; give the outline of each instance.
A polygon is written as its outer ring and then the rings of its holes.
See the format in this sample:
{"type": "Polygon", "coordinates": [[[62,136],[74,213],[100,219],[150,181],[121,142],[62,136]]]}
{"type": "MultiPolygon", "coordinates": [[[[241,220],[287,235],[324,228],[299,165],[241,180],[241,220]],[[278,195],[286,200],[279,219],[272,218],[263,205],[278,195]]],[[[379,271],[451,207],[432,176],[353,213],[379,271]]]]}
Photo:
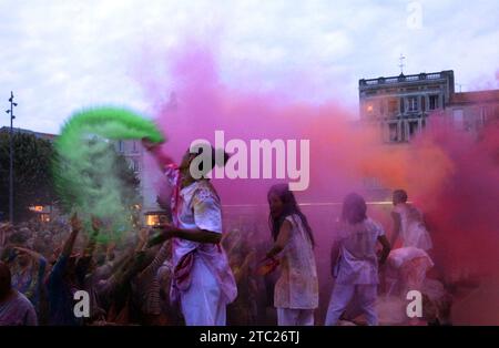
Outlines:
{"type": "MultiPolygon", "coordinates": [[[[13,217],[16,222],[31,217],[33,205],[51,205],[54,192],[51,180],[53,146],[32,134],[13,134],[13,217]]],[[[9,212],[9,133],[0,133],[0,212],[9,212]]]]}

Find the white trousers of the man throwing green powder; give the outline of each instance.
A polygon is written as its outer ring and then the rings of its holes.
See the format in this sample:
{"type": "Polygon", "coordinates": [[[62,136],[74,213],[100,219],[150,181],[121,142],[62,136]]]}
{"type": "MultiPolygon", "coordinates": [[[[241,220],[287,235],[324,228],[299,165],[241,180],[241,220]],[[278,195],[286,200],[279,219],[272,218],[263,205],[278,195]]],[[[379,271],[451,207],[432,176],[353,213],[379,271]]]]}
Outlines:
{"type": "Polygon", "coordinates": [[[203,259],[194,259],[192,283],[181,293],[181,307],[187,326],[225,326],[226,301],[203,259]]]}

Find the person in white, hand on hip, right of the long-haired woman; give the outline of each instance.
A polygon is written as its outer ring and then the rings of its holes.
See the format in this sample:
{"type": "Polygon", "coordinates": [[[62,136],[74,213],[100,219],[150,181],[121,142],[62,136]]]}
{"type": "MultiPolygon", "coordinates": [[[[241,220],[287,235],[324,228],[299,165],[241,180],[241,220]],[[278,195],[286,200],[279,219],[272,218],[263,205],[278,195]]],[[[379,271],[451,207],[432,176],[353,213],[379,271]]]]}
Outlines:
{"type": "Polygon", "coordinates": [[[337,325],[350,300],[365,314],[368,325],[377,325],[378,256],[376,245],[383,246],[379,263],[384,264],[390,245],[383,227],[367,217],[367,206],[358,194],[349,194],[343,202],[337,224],[338,239],[332,248],[332,267],[336,277],[325,325],[337,325]]]}

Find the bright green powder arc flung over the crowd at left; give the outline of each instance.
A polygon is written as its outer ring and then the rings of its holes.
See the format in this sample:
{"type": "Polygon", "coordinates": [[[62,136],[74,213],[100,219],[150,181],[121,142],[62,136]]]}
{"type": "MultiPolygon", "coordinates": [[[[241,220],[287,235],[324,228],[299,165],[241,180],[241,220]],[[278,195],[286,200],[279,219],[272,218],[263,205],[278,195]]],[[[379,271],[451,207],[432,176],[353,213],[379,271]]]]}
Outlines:
{"type": "Polygon", "coordinates": [[[133,229],[138,193],[123,177],[112,141],[164,142],[153,122],[120,108],[94,108],[74,113],[64,124],[54,146],[54,186],[67,213],[78,212],[84,229],[96,216],[106,226],[99,240],[116,240],[133,229]]]}

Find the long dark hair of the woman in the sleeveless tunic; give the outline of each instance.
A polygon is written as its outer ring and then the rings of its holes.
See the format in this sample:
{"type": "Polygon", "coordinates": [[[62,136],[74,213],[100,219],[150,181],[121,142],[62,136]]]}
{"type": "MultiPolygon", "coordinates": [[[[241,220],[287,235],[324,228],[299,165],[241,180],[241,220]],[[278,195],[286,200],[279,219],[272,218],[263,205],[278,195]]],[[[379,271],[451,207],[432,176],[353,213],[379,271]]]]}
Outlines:
{"type": "Polygon", "coordinates": [[[279,234],[281,226],[283,225],[284,219],[293,214],[296,214],[302,219],[302,224],[305,227],[308,237],[310,238],[312,245],[315,246],[314,235],[312,233],[312,228],[308,225],[308,221],[306,216],[299,209],[298,204],[296,203],[295,195],[293,191],[289,190],[288,184],[276,184],[273,185],[267,193],[267,201],[271,198],[271,194],[275,194],[279,197],[281,202],[283,202],[284,211],[277,217],[273,217],[272,214],[268,215],[268,226],[272,232],[272,237],[274,240],[277,240],[277,236],[279,234]]]}

